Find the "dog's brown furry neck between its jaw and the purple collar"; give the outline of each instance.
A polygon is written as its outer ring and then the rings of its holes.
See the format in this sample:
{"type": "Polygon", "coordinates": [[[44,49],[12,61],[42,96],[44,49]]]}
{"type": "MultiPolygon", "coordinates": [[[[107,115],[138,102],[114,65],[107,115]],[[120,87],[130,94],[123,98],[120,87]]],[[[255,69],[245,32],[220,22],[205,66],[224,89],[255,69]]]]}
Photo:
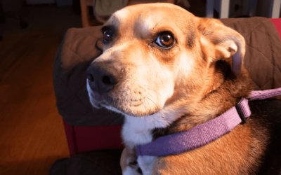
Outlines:
{"type": "Polygon", "coordinates": [[[228,71],[230,69],[226,62],[216,62],[214,66],[216,71],[212,76],[214,79],[209,82],[209,90],[206,90],[200,102],[192,106],[192,112],[179,116],[168,127],[152,130],[153,140],[206,123],[235,106],[241,97],[251,94],[252,84],[246,69],[242,69],[239,76],[234,76],[228,71]]]}

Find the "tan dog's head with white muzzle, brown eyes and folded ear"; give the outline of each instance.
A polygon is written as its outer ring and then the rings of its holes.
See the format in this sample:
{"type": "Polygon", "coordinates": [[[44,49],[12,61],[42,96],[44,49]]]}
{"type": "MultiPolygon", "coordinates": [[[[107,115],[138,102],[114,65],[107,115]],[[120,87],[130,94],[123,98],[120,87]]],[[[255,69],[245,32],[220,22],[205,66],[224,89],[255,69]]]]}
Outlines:
{"type": "Polygon", "coordinates": [[[87,70],[90,101],[129,116],[186,113],[220,85],[216,62],[236,76],[242,69],[240,34],[170,3],[123,8],[102,32],[103,54],[87,70]]]}

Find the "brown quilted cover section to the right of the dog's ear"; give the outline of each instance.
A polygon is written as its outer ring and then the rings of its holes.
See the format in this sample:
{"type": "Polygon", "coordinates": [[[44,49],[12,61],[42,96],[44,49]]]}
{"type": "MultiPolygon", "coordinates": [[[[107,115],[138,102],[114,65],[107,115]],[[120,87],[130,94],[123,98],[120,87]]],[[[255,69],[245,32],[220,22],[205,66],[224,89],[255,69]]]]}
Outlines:
{"type": "Polygon", "coordinates": [[[281,41],[278,31],[267,18],[221,20],[246,41],[244,66],[254,82],[254,90],[281,87],[281,41]]]}

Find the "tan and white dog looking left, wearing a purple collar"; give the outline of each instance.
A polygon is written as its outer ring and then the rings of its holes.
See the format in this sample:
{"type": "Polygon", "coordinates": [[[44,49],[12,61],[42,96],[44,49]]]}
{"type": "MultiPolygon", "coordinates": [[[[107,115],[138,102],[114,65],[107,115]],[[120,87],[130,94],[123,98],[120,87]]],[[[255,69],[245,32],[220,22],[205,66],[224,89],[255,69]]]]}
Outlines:
{"type": "Polygon", "coordinates": [[[192,151],[136,157],[136,145],[190,130],[249,97],[237,31],[170,3],[118,10],[101,31],[87,90],[93,106],[125,116],[123,174],[256,174],[268,130],[252,119],[192,151]]]}

